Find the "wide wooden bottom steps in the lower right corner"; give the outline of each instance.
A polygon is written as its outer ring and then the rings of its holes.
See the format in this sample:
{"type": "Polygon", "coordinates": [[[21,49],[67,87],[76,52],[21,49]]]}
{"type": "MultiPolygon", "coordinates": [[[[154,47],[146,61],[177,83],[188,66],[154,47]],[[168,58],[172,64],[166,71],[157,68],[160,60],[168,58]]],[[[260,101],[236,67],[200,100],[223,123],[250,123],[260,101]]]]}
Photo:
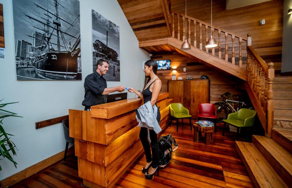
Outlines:
{"type": "Polygon", "coordinates": [[[292,155],[282,144],[281,138],[257,135],[253,135],[253,143],[236,141],[236,150],[255,187],[292,187],[292,155]]]}

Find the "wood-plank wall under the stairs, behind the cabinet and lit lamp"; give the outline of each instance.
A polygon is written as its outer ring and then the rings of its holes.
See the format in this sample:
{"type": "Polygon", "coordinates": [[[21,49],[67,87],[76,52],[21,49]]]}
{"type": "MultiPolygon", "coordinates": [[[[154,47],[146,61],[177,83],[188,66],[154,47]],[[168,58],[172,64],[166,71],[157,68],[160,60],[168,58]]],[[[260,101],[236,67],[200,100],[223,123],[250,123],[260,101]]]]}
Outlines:
{"type": "Polygon", "coordinates": [[[224,72],[212,69],[201,63],[194,62],[193,59],[181,55],[178,52],[161,52],[160,54],[154,54],[152,59],[170,59],[171,66],[176,67],[176,73],[172,70],[157,71],[157,75],[162,82],[161,92],[167,92],[167,80],[171,80],[172,74],[176,74],[176,79],[178,77],[186,79],[188,75],[191,75],[193,78],[200,78],[201,75],[206,75],[210,79],[210,103],[220,102],[220,95],[227,91],[233,95],[243,95],[241,90],[237,88],[243,83],[241,79],[227,75],[224,72]],[[183,72],[184,67],[187,68],[186,72],[183,72]]]}

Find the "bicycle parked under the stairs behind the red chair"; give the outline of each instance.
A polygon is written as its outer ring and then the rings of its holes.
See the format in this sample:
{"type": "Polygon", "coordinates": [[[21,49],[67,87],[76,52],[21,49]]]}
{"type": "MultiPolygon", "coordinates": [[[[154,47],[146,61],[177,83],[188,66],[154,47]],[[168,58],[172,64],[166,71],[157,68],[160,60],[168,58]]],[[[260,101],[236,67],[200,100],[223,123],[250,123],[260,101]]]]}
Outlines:
{"type": "Polygon", "coordinates": [[[220,95],[220,98],[223,98],[221,102],[214,103],[217,113],[217,122],[222,122],[227,118],[229,113],[237,112],[241,108],[252,109],[253,107],[248,107],[243,101],[244,97],[235,97],[239,98],[239,101],[233,100],[234,96],[230,92],[226,92],[223,95],[220,95]],[[226,96],[226,97],[225,97],[226,96]],[[230,104],[232,103],[232,104],[230,104]],[[234,104],[237,104],[237,108],[234,108],[234,104]],[[228,109],[228,112],[227,112],[228,109]]]}

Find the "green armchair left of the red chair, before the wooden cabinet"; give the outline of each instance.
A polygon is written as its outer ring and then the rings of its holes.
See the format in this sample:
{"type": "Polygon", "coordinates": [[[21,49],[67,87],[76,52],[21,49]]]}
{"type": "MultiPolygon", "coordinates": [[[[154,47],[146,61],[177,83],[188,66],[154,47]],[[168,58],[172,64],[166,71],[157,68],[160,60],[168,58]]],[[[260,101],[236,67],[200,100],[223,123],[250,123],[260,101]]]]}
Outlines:
{"type": "Polygon", "coordinates": [[[170,122],[169,126],[171,126],[171,122],[173,118],[176,118],[176,132],[178,132],[178,119],[182,119],[182,125],[183,125],[183,119],[184,118],[189,118],[190,120],[190,127],[192,130],[192,120],[191,120],[191,115],[189,113],[189,110],[185,107],[183,107],[182,104],[180,103],[172,103],[170,104],[170,122]]]}

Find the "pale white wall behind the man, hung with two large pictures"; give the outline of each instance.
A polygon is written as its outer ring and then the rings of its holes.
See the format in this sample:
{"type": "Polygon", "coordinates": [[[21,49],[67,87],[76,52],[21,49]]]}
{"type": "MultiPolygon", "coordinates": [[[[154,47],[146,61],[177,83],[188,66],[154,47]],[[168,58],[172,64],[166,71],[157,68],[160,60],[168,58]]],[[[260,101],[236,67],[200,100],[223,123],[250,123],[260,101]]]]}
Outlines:
{"type": "MultiPolygon", "coordinates": [[[[142,62],[150,57],[138,47],[138,40],[116,0],[80,0],[82,81],[18,81],[12,0],[0,0],[0,3],[4,10],[6,52],[5,59],[0,58],[0,98],[4,102],[19,102],[7,106],[6,110],[23,116],[4,120],[4,129],[14,135],[11,140],[19,150],[13,157],[17,169],[7,159],[0,160],[2,180],[65,149],[61,124],[36,130],[35,122],[67,115],[68,109],[84,109],[81,105],[84,78],[92,73],[91,9],[120,27],[121,81],[107,82],[108,87],[123,85],[142,89],[142,62]]],[[[133,93],[128,97],[134,97],[133,93]]]]}

